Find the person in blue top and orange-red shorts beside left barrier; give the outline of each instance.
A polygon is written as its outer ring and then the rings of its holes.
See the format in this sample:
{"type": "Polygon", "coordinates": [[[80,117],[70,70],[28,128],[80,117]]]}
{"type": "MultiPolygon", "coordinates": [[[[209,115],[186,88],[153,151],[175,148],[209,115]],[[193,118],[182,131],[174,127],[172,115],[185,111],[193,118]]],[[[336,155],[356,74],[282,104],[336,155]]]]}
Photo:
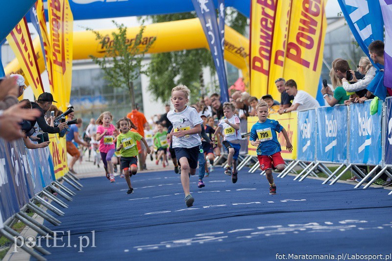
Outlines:
{"type": "Polygon", "coordinates": [[[75,165],[75,162],[77,161],[77,159],[79,159],[80,152],[72,141],[74,140],[77,144],[86,147],[89,145],[87,142],[84,142],[79,138],[78,128],[80,128],[81,126],[82,126],[82,119],[77,119],[77,124],[72,124],[70,126],[69,132],[65,136],[65,139],[67,141],[67,152],[73,157],[69,165],[69,170],[73,174],[76,174],[76,172],[73,170],[73,165],[75,165]]]}

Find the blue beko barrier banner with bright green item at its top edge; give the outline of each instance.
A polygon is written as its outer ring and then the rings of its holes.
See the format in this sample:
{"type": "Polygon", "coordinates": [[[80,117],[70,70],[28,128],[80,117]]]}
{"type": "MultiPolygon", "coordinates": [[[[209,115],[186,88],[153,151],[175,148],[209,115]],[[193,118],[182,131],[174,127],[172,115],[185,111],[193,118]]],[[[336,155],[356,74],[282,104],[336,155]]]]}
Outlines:
{"type": "Polygon", "coordinates": [[[370,101],[350,105],[349,163],[381,164],[381,119],[381,101],[374,115],[370,115],[370,101]]]}

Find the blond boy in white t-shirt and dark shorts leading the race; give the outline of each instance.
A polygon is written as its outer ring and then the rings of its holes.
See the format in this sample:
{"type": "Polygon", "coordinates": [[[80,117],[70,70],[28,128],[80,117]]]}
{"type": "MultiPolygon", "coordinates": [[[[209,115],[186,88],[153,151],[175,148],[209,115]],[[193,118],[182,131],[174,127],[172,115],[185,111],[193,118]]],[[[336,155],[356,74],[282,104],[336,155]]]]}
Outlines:
{"type": "Polygon", "coordinates": [[[195,199],[189,191],[190,175],[196,174],[199,146],[201,145],[198,133],[201,132],[200,124],[203,120],[196,109],[186,106],[190,94],[188,87],[178,85],[172,89],[172,104],[174,110],[167,115],[173,124],[171,138],[175,155],[181,166],[181,184],[185,193],[187,207],[192,207],[195,199]]]}

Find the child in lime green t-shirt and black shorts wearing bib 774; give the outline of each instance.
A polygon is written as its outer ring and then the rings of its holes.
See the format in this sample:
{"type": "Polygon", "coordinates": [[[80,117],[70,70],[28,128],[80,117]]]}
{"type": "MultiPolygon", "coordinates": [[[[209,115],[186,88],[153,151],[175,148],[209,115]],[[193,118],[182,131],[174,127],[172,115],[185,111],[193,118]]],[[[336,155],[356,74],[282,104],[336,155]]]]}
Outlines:
{"type": "Polygon", "coordinates": [[[139,150],[136,142],[142,141],[147,148],[147,154],[151,153],[151,149],[148,146],[146,140],[142,135],[137,132],[130,131],[131,120],[124,117],[117,121],[117,128],[121,130],[121,134],[117,137],[117,151],[120,151],[121,155],[121,169],[124,170],[125,180],[128,184],[127,194],[133,193],[133,188],[131,185],[131,175],[136,175],[138,171],[138,154],[139,150]],[[129,171],[129,166],[131,171],[129,171]]]}

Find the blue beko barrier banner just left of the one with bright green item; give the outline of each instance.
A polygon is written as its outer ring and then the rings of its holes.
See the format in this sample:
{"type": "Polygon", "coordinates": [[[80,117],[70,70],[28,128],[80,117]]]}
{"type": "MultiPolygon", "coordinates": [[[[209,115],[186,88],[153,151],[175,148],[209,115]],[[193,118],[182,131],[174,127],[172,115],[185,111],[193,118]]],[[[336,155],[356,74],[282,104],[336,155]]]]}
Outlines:
{"type": "Polygon", "coordinates": [[[317,117],[318,161],[347,161],[347,106],[319,107],[317,117]]]}

